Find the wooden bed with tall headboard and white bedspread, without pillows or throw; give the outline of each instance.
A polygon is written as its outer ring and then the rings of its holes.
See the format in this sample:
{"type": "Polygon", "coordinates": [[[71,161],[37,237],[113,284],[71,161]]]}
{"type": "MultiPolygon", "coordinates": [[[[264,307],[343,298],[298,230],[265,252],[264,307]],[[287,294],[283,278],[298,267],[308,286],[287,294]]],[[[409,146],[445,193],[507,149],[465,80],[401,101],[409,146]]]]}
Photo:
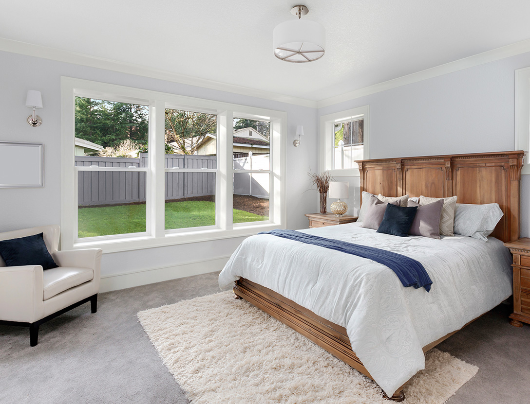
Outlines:
{"type": "Polygon", "coordinates": [[[361,191],[498,203],[504,216],[491,234],[496,238],[487,243],[463,236],[403,240],[355,223],[304,231],[406,251],[431,271],[429,293],[403,288],[390,271],[367,270],[381,264],[332,250],[319,253],[268,234],[242,243],[219,284],[235,281],[236,296],[374,379],[387,398],[401,401],[404,385],[421,369],[423,352],[511,295],[510,258],[502,242],[519,237],[523,158],[524,152],[511,151],[358,161],[361,191]],[[345,269],[353,267],[366,273],[352,277],[345,269]]]}

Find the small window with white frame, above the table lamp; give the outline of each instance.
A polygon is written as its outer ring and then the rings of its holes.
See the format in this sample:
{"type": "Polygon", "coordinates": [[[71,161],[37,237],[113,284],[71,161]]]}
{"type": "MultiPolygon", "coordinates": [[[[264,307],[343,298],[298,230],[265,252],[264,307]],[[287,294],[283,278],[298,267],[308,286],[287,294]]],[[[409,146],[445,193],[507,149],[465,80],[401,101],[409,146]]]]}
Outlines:
{"type": "Polygon", "coordinates": [[[359,176],[355,160],[368,159],[368,106],[321,117],[323,170],[335,176],[359,176]]]}

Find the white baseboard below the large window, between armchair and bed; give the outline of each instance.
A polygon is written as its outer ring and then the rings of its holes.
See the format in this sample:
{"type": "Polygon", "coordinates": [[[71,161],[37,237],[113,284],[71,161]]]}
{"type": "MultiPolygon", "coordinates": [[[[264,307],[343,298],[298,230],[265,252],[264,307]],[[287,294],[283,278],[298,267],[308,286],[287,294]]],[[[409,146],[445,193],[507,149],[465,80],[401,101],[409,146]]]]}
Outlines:
{"type": "Polygon", "coordinates": [[[104,275],[101,277],[99,292],[133,288],[149,283],[220,271],[229,258],[230,256],[226,255],[208,260],[184,262],[182,264],[171,265],[170,267],[149,268],[139,271],[104,275]]]}

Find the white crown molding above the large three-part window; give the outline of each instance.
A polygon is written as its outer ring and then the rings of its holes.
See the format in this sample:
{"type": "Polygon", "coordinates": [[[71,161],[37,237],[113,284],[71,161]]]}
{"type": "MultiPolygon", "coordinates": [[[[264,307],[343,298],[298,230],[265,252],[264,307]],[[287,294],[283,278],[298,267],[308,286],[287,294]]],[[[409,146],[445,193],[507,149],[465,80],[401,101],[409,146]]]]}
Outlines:
{"type": "Polygon", "coordinates": [[[82,53],[70,52],[55,48],[48,48],[43,47],[41,45],[14,41],[6,38],[0,38],[0,51],[25,54],[27,56],[35,56],[38,58],[56,60],[66,63],[73,63],[74,65],[82,65],[99,69],[118,71],[121,73],[172,81],[190,86],[210,88],[219,91],[227,91],[228,93],[269,99],[280,103],[301,105],[310,108],[316,108],[317,105],[316,101],[304,98],[291,97],[288,95],[272,93],[271,91],[263,91],[254,88],[227,84],[214,80],[180,75],[166,70],[136,65],[134,63],[119,62],[116,60],[99,58],[96,56],[89,56],[82,53]]]}

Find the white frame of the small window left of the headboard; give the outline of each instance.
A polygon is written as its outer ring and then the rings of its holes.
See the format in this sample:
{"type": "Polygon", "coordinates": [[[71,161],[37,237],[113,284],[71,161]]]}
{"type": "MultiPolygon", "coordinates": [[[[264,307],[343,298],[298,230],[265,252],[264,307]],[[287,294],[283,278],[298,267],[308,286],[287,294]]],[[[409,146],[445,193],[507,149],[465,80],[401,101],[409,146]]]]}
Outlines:
{"type": "Polygon", "coordinates": [[[333,168],[333,153],[335,141],[335,123],[356,120],[362,116],[364,120],[363,138],[363,159],[370,158],[370,108],[368,105],[347,109],[346,111],[335,112],[333,114],[322,115],[320,117],[320,158],[319,171],[328,171],[330,175],[336,177],[359,177],[359,170],[356,168],[333,168]]]}

